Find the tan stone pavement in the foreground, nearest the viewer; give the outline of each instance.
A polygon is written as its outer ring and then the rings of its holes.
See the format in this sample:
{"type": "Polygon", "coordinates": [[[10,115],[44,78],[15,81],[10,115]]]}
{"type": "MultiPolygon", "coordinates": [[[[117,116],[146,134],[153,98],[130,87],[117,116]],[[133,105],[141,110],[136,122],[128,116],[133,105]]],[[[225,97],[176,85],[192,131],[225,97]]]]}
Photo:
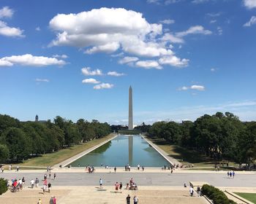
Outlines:
{"type": "MultiPolygon", "coordinates": [[[[55,195],[59,204],[73,203],[126,203],[127,195],[130,195],[131,201],[134,195],[138,196],[139,203],[159,203],[159,204],[207,204],[204,197],[189,196],[189,189],[181,187],[140,187],[138,191],[122,189],[115,192],[114,187],[55,187],[50,193],[42,194],[41,189],[24,188],[20,192],[7,192],[0,196],[0,203],[26,203],[36,204],[38,199],[42,199],[42,203],[48,203],[51,195],[55,195]]],[[[133,202],[131,202],[133,203],[133,202]]]]}

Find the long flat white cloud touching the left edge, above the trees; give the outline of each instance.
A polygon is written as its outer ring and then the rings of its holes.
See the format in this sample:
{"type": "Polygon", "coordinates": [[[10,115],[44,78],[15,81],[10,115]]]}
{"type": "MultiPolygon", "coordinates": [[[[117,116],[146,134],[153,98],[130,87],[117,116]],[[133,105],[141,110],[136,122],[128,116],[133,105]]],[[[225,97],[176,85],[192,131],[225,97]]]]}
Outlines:
{"type": "Polygon", "coordinates": [[[58,60],[56,58],[48,58],[43,56],[33,56],[31,54],[12,55],[10,57],[0,58],[0,66],[62,66],[64,64],[66,64],[64,60],[58,60]]]}

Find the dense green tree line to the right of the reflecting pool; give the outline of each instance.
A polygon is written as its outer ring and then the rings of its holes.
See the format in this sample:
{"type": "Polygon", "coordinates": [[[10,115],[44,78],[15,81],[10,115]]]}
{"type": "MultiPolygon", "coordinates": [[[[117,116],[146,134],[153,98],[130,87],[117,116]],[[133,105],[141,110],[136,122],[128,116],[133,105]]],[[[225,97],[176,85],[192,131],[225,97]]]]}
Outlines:
{"type": "Polygon", "coordinates": [[[230,112],[205,114],[195,122],[155,122],[148,133],[219,161],[252,164],[256,160],[256,122],[241,122],[230,112]]]}

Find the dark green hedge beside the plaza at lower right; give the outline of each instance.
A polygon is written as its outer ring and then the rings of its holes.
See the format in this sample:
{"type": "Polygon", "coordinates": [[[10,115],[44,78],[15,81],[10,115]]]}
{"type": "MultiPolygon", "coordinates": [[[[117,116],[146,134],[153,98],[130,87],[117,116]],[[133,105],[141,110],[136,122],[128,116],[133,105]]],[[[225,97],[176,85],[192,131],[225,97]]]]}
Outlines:
{"type": "Polygon", "coordinates": [[[224,192],[207,184],[203,185],[202,193],[213,200],[214,204],[237,204],[233,200],[228,199],[224,192]]]}

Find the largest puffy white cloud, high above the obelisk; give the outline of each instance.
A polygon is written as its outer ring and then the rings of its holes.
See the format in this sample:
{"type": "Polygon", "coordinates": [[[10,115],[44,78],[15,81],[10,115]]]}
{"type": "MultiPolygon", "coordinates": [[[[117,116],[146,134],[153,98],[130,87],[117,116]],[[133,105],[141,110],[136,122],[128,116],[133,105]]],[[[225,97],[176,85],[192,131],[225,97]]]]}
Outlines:
{"type": "MultiPolygon", "coordinates": [[[[162,23],[170,24],[174,20],[166,19],[162,23]]],[[[100,8],[77,14],[58,14],[49,25],[57,35],[50,46],[82,47],[86,48],[86,54],[119,50],[144,58],[175,55],[172,47],[161,41],[162,24],[148,23],[140,12],[132,10],[100,8]]],[[[173,41],[182,42],[182,39],[176,36],[173,41]]],[[[133,64],[135,61],[138,58],[123,58],[119,63],[133,64]]]]}

